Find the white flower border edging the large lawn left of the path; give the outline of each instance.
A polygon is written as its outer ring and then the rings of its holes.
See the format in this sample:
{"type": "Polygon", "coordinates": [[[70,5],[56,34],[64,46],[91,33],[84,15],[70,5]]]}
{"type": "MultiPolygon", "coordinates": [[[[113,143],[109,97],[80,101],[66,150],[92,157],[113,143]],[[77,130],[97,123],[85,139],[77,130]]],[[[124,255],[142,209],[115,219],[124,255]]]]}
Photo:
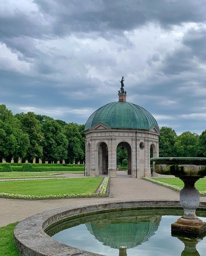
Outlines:
{"type": "MultiPolygon", "coordinates": [[[[90,177],[81,177],[81,178],[89,179],[90,177]]],[[[73,179],[73,178],[69,178],[69,179],[73,179]]],[[[12,181],[4,181],[4,182],[12,182],[12,181]]],[[[24,199],[24,200],[40,200],[40,199],[108,196],[108,183],[109,183],[109,177],[105,177],[95,193],[56,194],[56,195],[23,195],[23,194],[9,194],[9,193],[2,192],[2,193],[0,193],[0,197],[1,198],[12,198],[12,199],[24,199]]]]}

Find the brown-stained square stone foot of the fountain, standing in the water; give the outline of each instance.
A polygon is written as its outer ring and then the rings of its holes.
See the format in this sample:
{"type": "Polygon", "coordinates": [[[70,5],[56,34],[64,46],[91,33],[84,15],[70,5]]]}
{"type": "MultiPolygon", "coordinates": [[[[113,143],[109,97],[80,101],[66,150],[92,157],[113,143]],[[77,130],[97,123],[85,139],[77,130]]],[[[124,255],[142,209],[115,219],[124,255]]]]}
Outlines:
{"type": "Polygon", "coordinates": [[[206,231],[206,222],[202,222],[199,218],[184,220],[181,217],[175,223],[171,224],[171,231],[175,234],[199,235],[206,231]]]}

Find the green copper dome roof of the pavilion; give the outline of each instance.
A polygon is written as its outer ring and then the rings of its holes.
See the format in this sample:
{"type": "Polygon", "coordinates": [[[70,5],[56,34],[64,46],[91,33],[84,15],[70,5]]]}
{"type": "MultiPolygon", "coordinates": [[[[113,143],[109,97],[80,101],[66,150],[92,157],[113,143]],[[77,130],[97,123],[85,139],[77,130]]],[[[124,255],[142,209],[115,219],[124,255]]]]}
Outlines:
{"type": "Polygon", "coordinates": [[[154,125],[158,127],[157,121],[147,110],[126,101],[111,102],[97,109],[87,120],[85,130],[98,122],[111,128],[149,130],[154,125]]]}

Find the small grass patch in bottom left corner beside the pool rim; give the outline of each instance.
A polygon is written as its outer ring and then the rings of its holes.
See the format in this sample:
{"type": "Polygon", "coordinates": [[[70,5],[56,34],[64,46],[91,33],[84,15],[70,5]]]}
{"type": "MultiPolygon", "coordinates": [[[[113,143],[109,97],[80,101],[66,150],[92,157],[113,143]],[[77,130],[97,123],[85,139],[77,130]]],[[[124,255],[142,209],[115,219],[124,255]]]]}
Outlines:
{"type": "Polygon", "coordinates": [[[12,223],[0,228],[0,255],[1,256],[19,256],[14,245],[14,228],[18,224],[12,223]]]}

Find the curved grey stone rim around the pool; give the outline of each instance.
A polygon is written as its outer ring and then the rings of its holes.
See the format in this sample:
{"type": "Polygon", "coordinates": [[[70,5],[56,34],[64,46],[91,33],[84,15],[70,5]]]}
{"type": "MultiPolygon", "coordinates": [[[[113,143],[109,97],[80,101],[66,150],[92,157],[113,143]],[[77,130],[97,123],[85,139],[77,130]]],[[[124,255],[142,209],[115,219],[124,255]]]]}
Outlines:
{"type": "MultiPolygon", "coordinates": [[[[54,240],[44,230],[50,225],[84,213],[100,213],[121,208],[157,208],[182,209],[179,201],[167,200],[121,200],[102,202],[99,204],[75,205],[45,211],[26,218],[14,229],[14,243],[20,256],[103,256],[89,251],[80,250],[54,240]]],[[[200,202],[198,210],[206,211],[206,202],[200,202]]]]}

